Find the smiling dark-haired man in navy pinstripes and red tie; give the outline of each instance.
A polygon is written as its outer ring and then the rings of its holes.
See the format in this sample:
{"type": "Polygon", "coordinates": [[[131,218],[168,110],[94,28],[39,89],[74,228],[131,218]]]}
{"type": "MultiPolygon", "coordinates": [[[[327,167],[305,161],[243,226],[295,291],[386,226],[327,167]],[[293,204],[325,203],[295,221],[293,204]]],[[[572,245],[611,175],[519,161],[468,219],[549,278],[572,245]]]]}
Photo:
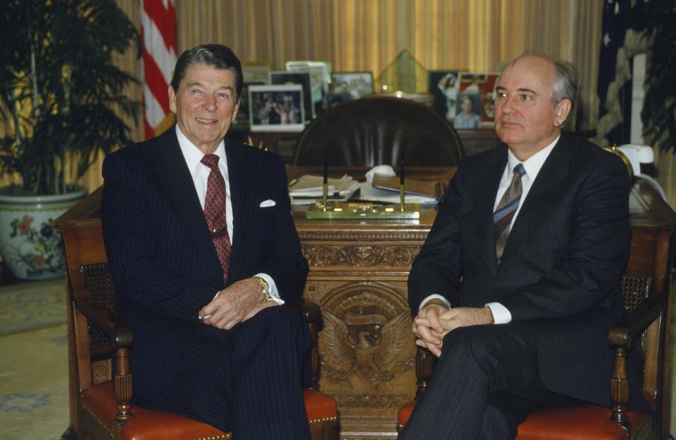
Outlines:
{"type": "Polygon", "coordinates": [[[225,139],[242,67],[230,48],[180,56],[177,124],[106,157],[101,217],[117,308],[134,333],[134,403],[234,439],[309,439],[310,336],[285,302],[308,271],[280,157],[225,139]]]}

